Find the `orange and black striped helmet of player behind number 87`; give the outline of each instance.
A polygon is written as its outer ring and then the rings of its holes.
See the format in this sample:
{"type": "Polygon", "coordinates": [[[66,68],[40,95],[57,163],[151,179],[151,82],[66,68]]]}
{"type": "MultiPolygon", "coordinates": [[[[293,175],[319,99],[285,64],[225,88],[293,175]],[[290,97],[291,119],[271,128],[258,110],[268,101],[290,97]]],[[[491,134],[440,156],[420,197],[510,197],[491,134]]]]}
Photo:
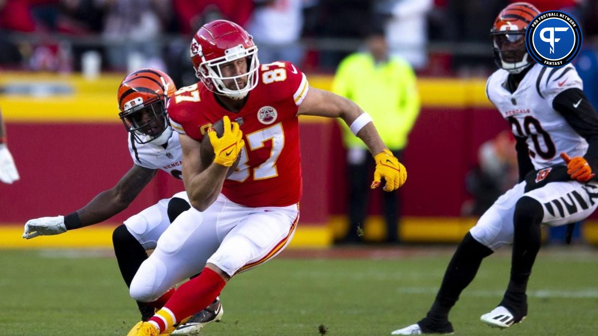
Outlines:
{"type": "Polygon", "coordinates": [[[136,142],[170,138],[166,104],[175,91],[174,81],[158,69],[139,69],[124,77],[118,86],[118,117],[136,142]]]}

